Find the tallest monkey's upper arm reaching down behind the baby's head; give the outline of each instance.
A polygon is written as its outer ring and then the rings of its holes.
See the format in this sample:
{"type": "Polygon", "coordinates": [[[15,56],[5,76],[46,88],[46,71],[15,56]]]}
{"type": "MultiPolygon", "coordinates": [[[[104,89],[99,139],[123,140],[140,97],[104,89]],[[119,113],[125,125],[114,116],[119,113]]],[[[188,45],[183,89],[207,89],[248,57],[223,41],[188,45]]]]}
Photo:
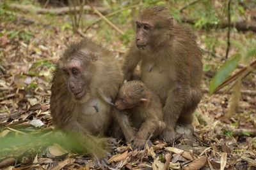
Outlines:
{"type": "Polygon", "coordinates": [[[140,53],[136,52],[136,46],[132,46],[127,55],[124,58],[124,64],[122,67],[125,80],[130,80],[135,67],[141,60],[140,53]],[[132,52],[133,51],[133,52],[132,52]]]}

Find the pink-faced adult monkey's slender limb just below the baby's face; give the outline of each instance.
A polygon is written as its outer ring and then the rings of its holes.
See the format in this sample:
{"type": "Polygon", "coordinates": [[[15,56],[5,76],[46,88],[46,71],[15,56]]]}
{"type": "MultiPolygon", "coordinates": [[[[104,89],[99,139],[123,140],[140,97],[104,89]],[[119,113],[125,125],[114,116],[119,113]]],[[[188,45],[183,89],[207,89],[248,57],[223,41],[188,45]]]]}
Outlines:
{"type": "Polygon", "coordinates": [[[118,122],[118,125],[122,129],[122,132],[124,133],[125,139],[128,142],[131,142],[136,135],[136,131],[131,127],[129,116],[126,115],[124,111],[117,110],[116,108],[113,109],[113,114],[118,122]]]}

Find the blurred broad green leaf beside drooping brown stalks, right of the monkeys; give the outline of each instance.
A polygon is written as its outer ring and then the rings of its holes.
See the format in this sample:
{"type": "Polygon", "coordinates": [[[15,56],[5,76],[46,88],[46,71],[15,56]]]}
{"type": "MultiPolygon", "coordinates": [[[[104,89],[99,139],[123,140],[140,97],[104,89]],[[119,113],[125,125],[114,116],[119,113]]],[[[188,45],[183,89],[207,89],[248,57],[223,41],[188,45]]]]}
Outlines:
{"type": "Polygon", "coordinates": [[[215,74],[214,78],[212,78],[211,85],[209,87],[209,92],[212,94],[214,90],[225,81],[228,76],[236,69],[239,60],[241,59],[241,55],[237,54],[232,59],[225,62],[224,66],[221,67],[220,71],[215,74]]]}

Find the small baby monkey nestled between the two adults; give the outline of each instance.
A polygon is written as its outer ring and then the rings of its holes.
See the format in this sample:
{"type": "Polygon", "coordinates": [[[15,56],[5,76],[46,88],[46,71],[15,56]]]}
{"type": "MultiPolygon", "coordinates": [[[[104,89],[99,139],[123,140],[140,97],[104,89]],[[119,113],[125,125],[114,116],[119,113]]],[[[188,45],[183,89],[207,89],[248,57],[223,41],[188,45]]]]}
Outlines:
{"type": "MultiPolygon", "coordinates": [[[[133,131],[127,129],[129,127],[138,129],[132,142],[132,148],[139,150],[145,148],[148,139],[156,138],[165,128],[163,107],[159,97],[145,87],[141,81],[125,80],[118,92],[115,106],[118,110],[124,110],[129,116],[131,126],[126,126],[122,131],[133,131]]],[[[125,121],[120,124],[125,124],[125,121]]],[[[122,128],[124,125],[120,125],[120,127],[122,128]]],[[[127,136],[125,138],[127,139],[127,136]]],[[[131,139],[127,139],[127,141],[129,140],[131,139]]]]}

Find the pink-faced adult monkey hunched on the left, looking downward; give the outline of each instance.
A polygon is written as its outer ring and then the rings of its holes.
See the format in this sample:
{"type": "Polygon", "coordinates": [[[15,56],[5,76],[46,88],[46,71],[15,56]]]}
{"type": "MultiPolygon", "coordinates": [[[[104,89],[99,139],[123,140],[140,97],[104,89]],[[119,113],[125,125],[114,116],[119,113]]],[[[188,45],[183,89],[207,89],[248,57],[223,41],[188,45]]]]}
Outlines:
{"type": "Polygon", "coordinates": [[[56,129],[92,140],[104,136],[113,119],[111,101],[123,81],[120,63],[110,50],[89,38],[72,43],[52,76],[52,123],[56,129]]]}

